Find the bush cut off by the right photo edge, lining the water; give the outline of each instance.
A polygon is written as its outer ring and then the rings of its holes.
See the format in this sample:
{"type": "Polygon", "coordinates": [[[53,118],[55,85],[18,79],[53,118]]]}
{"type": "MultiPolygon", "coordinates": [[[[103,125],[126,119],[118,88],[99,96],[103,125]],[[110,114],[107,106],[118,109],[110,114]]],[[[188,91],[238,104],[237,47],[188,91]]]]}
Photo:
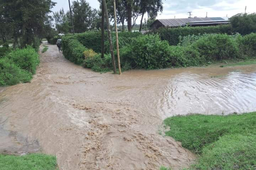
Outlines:
{"type": "Polygon", "coordinates": [[[256,57],[256,33],[238,38],[239,50],[247,57],[256,57]]]}

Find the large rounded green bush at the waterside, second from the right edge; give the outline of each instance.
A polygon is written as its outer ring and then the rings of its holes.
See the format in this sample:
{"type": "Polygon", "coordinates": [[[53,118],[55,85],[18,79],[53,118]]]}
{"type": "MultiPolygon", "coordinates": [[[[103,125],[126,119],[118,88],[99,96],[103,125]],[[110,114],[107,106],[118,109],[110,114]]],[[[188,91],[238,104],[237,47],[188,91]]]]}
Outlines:
{"type": "Polygon", "coordinates": [[[235,59],[239,56],[238,43],[226,34],[208,34],[192,45],[206,61],[235,59]]]}

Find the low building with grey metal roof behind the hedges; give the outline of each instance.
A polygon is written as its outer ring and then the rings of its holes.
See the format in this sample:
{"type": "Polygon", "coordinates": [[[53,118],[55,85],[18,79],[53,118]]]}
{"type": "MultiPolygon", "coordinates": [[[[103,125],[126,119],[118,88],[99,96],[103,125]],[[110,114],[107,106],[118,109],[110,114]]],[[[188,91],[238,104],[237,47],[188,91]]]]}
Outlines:
{"type": "Polygon", "coordinates": [[[189,24],[190,26],[210,26],[210,25],[218,25],[218,24],[226,24],[228,23],[228,20],[224,17],[205,17],[205,18],[175,18],[175,19],[156,19],[151,25],[150,29],[158,29],[160,27],[183,27],[186,26],[186,24],[189,24]],[[200,22],[205,21],[205,23],[193,23],[193,22],[200,22]],[[207,22],[208,23],[207,23],[207,22]],[[215,22],[215,23],[214,23],[215,22]],[[193,23],[193,24],[192,24],[193,23]]]}

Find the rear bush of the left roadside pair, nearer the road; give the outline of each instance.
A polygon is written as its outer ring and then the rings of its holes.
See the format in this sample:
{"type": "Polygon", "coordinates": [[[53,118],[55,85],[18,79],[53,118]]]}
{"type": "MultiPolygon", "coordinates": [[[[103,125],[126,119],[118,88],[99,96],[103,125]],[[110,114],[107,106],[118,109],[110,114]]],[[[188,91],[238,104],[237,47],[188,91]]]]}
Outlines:
{"type": "Polygon", "coordinates": [[[11,59],[21,69],[24,69],[32,74],[36,73],[39,58],[38,54],[31,46],[27,46],[24,49],[16,49],[6,55],[6,57],[11,59]]]}

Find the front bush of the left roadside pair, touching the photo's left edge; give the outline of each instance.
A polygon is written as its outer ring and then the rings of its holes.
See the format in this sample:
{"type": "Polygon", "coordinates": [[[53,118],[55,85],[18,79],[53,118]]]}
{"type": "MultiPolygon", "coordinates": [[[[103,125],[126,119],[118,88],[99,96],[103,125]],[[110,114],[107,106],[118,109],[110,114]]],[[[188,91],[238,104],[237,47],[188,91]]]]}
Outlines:
{"type": "Polygon", "coordinates": [[[32,74],[18,67],[7,57],[0,58],[0,85],[15,85],[26,83],[32,79],[32,74]]]}

